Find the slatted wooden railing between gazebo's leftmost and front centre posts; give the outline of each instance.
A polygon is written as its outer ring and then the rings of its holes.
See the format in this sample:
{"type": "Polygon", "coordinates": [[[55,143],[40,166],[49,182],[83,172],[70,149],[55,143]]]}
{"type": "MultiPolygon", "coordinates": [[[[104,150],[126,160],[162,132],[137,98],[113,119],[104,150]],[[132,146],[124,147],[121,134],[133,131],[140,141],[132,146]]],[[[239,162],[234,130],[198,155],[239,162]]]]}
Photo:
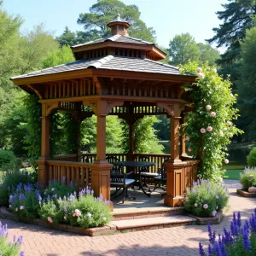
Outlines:
{"type": "Polygon", "coordinates": [[[49,166],[49,180],[56,180],[67,185],[73,183],[78,191],[90,184],[91,164],[48,160],[47,165],[49,166]]]}

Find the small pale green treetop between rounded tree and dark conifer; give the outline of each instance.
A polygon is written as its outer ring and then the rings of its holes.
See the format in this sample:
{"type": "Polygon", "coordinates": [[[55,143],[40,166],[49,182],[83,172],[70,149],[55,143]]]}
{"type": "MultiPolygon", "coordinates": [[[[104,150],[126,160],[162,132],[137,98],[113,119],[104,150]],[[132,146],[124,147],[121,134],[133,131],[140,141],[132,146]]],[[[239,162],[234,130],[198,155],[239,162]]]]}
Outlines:
{"type": "Polygon", "coordinates": [[[216,65],[216,61],[219,59],[218,49],[213,49],[210,44],[198,43],[197,47],[200,51],[199,65],[203,65],[208,62],[210,66],[216,65]]]}

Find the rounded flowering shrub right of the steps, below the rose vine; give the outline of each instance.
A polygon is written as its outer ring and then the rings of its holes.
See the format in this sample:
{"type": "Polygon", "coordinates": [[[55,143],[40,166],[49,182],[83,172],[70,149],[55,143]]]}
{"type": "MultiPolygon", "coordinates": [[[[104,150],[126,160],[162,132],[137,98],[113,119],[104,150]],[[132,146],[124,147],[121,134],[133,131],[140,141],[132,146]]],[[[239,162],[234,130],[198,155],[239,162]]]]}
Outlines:
{"type": "Polygon", "coordinates": [[[217,211],[223,209],[229,200],[228,190],[223,183],[212,183],[201,179],[187,189],[184,207],[187,212],[196,216],[215,216],[217,211]]]}

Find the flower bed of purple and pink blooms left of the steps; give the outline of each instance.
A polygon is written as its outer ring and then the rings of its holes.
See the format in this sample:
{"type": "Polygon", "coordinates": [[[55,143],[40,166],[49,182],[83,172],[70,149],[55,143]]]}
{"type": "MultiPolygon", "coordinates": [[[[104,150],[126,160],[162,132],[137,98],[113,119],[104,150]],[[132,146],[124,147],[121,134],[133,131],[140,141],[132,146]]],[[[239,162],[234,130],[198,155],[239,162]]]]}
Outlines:
{"type": "Polygon", "coordinates": [[[12,189],[9,208],[18,218],[41,218],[49,224],[70,224],[93,228],[108,224],[112,215],[108,201],[95,198],[93,190],[82,189],[79,195],[71,184],[51,182],[47,189],[20,183],[12,189]]]}

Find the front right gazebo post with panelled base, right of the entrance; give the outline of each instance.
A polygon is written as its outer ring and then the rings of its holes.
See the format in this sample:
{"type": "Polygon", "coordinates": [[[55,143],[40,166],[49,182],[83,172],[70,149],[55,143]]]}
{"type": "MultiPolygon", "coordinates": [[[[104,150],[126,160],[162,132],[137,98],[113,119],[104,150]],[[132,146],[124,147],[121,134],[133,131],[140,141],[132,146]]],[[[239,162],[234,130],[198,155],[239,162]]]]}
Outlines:
{"type": "MultiPolygon", "coordinates": [[[[177,113],[176,113],[177,114],[177,113]]],[[[179,154],[179,120],[171,117],[171,160],[166,163],[165,205],[178,207],[183,201],[183,162],[179,154]]]]}

